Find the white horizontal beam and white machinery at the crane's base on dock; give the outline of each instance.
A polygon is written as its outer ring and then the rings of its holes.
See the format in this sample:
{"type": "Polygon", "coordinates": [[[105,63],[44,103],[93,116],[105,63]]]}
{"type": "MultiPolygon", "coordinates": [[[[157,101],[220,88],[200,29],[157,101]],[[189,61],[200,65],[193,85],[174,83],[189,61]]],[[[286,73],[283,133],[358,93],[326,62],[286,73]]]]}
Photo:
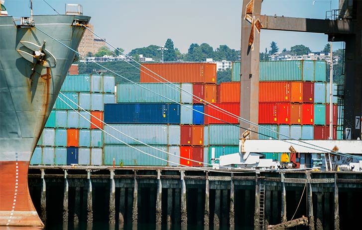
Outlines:
{"type": "MultiPolygon", "coordinates": [[[[295,162],[289,162],[289,159],[285,157],[281,157],[280,161],[273,161],[262,158],[260,153],[307,153],[324,155],[324,164],[321,164],[321,167],[326,171],[333,168],[362,171],[362,160],[352,162],[352,157],[347,157],[349,159],[344,161],[331,159],[339,153],[362,154],[361,140],[252,140],[249,139],[249,134],[249,130],[242,134],[242,139],[239,140],[239,153],[222,155],[219,158],[212,157],[213,167],[215,169],[223,166],[262,170],[295,168],[295,162]],[[216,160],[219,160],[219,163],[216,163],[216,160]],[[332,161],[335,162],[332,163],[332,161]]],[[[215,150],[212,149],[211,153],[215,155],[215,150]]]]}

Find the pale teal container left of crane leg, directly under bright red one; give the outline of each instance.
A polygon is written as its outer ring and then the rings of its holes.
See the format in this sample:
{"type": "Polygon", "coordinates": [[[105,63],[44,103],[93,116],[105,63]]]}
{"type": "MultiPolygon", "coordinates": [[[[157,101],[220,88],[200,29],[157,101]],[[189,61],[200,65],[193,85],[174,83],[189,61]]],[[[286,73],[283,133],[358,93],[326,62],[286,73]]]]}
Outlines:
{"type": "Polygon", "coordinates": [[[209,145],[239,145],[239,131],[234,125],[209,125],[209,145]]]}

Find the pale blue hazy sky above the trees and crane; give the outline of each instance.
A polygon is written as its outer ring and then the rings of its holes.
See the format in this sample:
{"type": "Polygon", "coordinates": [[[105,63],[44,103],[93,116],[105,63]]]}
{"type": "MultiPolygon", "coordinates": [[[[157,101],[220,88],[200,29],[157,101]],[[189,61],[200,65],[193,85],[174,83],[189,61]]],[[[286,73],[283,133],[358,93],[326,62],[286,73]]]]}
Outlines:
{"type": "MultiPolygon", "coordinates": [[[[220,45],[241,47],[242,0],[33,0],[33,14],[64,14],[66,3],[81,4],[83,14],[92,17],[94,32],[125,53],[163,46],[168,38],[181,53],[187,53],[192,43],[207,43],[214,50],[220,45]]],[[[29,0],[5,0],[5,7],[14,17],[30,15],[29,0]]],[[[261,14],[324,19],[330,8],[337,9],[338,0],[264,0],[261,14]]],[[[302,44],[318,52],[328,36],[262,30],[260,52],[269,50],[272,41],[279,51],[302,44]]],[[[343,44],[334,42],[332,47],[340,49],[343,44]]]]}

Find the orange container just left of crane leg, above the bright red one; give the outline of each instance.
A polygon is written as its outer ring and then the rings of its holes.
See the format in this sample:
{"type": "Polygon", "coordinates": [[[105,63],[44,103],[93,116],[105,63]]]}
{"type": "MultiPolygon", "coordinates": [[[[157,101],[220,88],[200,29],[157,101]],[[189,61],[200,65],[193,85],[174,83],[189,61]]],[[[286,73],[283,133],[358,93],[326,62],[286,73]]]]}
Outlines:
{"type": "Polygon", "coordinates": [[[240,82],[222,82],[219,88],[219,102],[240,102],[240,82]]]}

